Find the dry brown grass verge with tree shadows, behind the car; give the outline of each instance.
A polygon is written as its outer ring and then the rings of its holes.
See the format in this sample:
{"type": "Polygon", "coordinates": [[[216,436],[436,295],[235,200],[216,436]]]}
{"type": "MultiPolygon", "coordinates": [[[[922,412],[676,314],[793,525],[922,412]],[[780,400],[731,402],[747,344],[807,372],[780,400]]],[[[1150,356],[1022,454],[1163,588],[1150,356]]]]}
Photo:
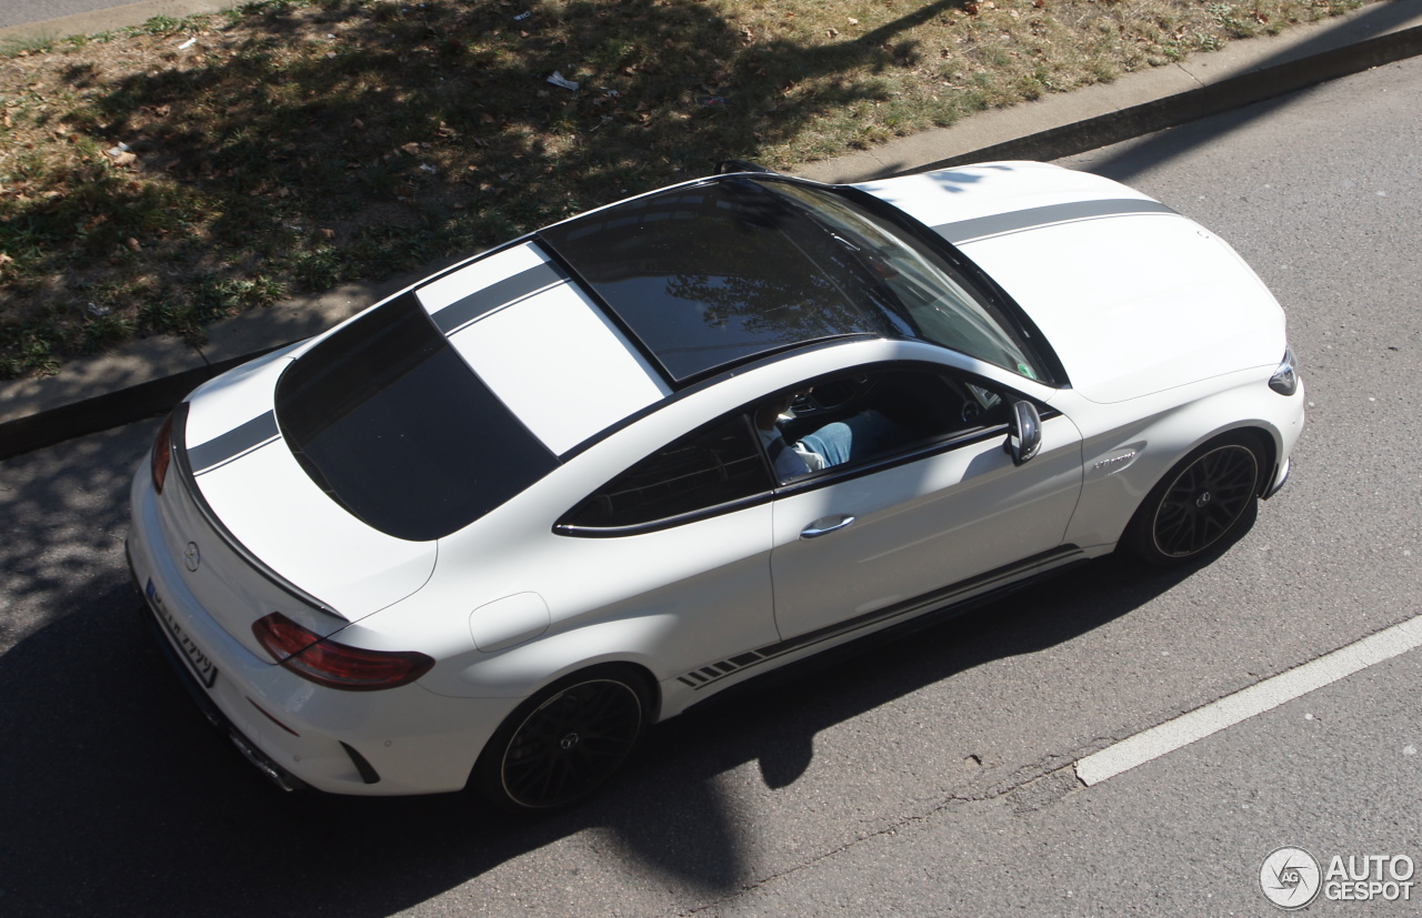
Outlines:
{"type": "Polygon", "coordinates": [[[1357,6],[272,0],[11,50],[0,377],[1357,6]]]}

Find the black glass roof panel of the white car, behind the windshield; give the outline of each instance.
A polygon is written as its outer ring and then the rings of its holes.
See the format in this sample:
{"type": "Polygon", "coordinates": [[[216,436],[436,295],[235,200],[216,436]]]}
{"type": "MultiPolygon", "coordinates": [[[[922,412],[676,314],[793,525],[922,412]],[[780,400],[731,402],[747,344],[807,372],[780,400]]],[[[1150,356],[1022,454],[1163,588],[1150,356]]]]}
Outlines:
{"type": "Polygon", "coordinates": [[[843,239],[781,176],[731,175],[653,192],[539,232],[681,388],[774,351],[894,335],[843,239]]]}

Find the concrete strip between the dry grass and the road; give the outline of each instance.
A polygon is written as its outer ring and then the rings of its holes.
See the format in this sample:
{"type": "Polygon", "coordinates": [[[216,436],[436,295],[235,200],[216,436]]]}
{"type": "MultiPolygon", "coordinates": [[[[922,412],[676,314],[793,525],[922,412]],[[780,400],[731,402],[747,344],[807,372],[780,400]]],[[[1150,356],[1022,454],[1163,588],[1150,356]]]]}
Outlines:
{"type": "MultiPolygon", "coordinates": [[[[811,163],[799,175],[862,182],[966,162],[1057,159],[1418,54],[1422,0],[1388,0],[1273,38],[1234,41],[1112,84],[811,163]]],[[[202,381],[328,328],[437,267],[245,313],[212,327],[201,347],[148,338],[70,362],[57,377],[0,382],[0,459],[168,411],[202,381]]]]}

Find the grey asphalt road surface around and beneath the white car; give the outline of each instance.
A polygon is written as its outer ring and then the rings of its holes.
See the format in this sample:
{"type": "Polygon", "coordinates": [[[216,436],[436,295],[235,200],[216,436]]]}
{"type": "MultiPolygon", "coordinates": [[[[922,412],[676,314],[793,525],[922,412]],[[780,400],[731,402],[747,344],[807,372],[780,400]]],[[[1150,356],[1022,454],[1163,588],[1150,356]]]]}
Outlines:
{"type": "Polygon", "coordinates": [[[1308,428],[1224,556],[1098,561],[670,722],[543,821],[280,796],[135,618],[125,490],[156,421],[0,463],[0,914],[1266,915],[1280,846],[1422,864],[1419,651],[1071,770],[1418,614],[1419,111],[1412,60],[1066,162],[1219,232],[1288,311],[1308,428]]]}

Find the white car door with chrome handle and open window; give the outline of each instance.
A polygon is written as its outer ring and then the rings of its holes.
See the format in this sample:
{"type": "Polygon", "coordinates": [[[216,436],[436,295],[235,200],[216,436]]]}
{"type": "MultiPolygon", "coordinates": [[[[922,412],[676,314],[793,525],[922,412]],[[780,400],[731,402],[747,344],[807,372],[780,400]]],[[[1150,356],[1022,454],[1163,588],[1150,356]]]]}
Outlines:
{"type": "Polygon", "coordinates": [[[950,601],[956,584],[987,588],[1065,554],[1082,482],[1068,418],[1045,412],[1041,452],[1015,465],[1004,449],[1014,392],[937,368],[862,379],[877,395],[856,414],[877,411],[904,435],[778,490],[771,576],[782,639],[867,627],[950,601]]]}

